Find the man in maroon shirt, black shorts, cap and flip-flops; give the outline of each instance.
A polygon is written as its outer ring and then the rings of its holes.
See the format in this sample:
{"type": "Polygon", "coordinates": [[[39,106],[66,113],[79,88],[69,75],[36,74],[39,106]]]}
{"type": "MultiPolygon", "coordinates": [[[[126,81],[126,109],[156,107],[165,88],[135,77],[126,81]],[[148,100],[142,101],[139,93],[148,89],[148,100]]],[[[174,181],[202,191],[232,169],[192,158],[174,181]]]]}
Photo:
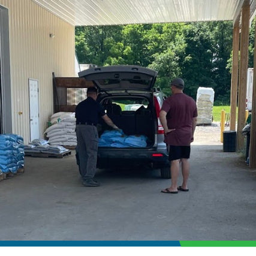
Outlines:
{"type": "Polygon", "coordinates": [[[161,192],[177,194],[188,191],[190,143],[194,141],[194,131],[197,124],[197,105],[195,101],[183,94],[184,81],[180,78],[171,81],[171,96],[162,104],[159,114],[164,128],[165,140],[169,149],[171,161],[171,186],[161,192]],[[183,183],[177,186],[180,162],[183,183]]]}

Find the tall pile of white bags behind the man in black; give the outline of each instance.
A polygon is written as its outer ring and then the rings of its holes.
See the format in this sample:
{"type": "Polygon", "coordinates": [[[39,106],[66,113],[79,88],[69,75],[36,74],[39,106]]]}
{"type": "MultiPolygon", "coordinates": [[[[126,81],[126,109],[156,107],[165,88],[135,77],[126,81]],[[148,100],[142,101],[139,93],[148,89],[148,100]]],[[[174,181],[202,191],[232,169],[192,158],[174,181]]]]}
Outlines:
{"type": "Polygon", "coordinates": [[[51,145],[77,146],[74,112],[58,112],[50,117],[51,126],[44,131],[51,145]]]}

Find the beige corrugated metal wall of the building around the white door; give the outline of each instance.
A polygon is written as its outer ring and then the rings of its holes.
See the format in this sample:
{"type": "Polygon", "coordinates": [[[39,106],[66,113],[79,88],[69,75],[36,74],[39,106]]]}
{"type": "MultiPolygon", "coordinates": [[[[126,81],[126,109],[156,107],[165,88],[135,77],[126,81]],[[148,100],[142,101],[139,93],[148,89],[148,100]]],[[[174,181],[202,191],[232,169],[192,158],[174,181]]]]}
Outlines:
{"type": "Polygon", "coordinates": [[[13,132],[29,141],[28,79],[39,81],[40,133],[53,113],[52,72],[74,74],[74,26],[32,0],[0,0],[9,10],[13,132]],[[50,34],[55,34],[51,38],[50,34]],[[22,115],[19,115],[22,112],[22,115]]]}

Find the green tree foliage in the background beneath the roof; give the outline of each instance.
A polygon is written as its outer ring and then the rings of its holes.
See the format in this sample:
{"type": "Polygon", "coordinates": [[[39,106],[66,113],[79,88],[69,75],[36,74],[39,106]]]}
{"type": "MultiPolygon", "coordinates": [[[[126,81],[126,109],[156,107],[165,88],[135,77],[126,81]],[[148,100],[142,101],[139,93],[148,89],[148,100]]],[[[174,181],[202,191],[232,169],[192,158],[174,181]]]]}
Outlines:
{"type": "MultiPolygon", "coordinates": [[[[232,22],[161,23],[76,27],[80,63],[140,65],[158,71],[156,86],[170,94],[170,80],[182,77],[185,93],[195,98],[199,86],[215,90],[215,102],[230,101],[232,22]]],[[[253,64],[254,23],[249,66],[253,64]]]]}

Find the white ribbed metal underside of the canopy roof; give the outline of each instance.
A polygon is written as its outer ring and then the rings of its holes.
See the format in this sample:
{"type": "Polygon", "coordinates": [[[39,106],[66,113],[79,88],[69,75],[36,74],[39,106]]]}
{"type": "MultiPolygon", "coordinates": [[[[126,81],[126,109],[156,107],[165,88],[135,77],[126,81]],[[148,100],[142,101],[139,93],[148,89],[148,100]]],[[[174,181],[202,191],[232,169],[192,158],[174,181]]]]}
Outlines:
{"type": "MultiPolygon", "coordinates": [[[[251,0],[251,16],[255,10],[251,0]]],[[[74,26],[235,20],[243,0],[34,0],[74,26]]]]}

